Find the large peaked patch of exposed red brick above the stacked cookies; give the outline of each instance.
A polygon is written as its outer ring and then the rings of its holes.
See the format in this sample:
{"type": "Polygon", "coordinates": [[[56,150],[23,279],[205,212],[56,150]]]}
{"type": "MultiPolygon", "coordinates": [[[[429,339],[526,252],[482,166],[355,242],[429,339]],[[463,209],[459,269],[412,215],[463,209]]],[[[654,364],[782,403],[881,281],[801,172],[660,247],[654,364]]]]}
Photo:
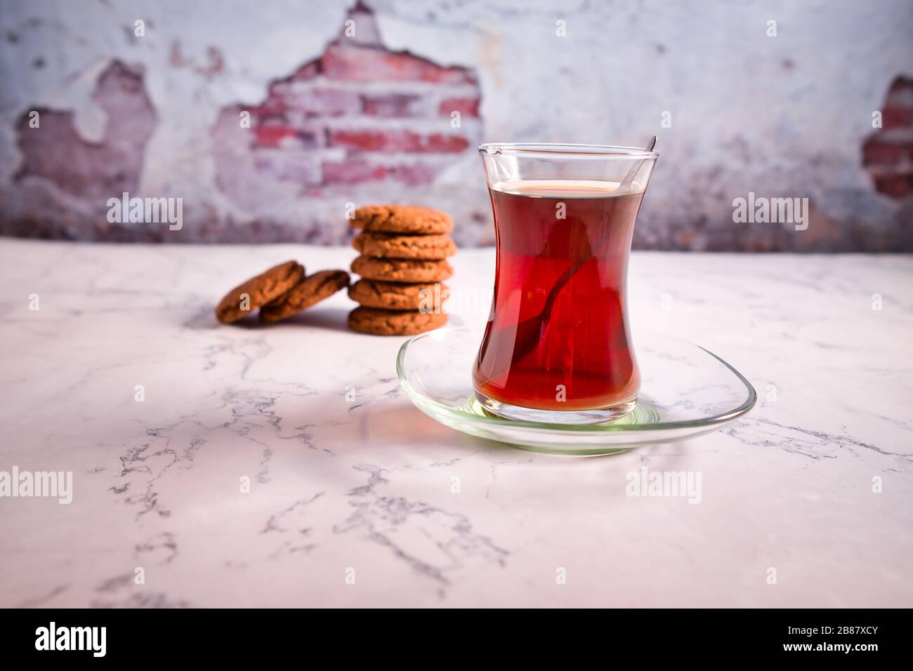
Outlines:
{"type": "Polygon", "coordinates": [[[274,80],[256,106],[223,109],[214,126],[215,145],[225,149],[218,183],[246,211],[271,207],[270,194],[358,199],[362,191],[376,197],[378,184],[393,187],[391,197],[407,194],[406,187],[435,181],[446,167],[440,154],[466,152],[480,140],[481,124],[457,131],[442,118],[454,110],[478,116],[473,71],[388,51],[371,11],[358,5],[349,16],[356,15],[359,40],[339,37],[320,58],[274,80]],[[251,129],[241,135],[238,110],[251,112],[251,129]],[[279,182],[299,188],[276,189],[279,182]]]}

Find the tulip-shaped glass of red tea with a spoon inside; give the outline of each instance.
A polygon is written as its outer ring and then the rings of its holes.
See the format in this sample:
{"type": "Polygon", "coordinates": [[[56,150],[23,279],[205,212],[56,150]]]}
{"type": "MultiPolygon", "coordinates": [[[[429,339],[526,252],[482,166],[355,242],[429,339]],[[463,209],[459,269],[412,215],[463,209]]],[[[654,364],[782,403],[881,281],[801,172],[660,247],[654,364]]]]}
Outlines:
{"type": "Polygon", "coordinates": [[[580,144],[482,144],[495,217],[494,298],[473,371],[508,419],[594,424],[630,412],[640,374],[625,284],[658,154],[580,144]]]}

